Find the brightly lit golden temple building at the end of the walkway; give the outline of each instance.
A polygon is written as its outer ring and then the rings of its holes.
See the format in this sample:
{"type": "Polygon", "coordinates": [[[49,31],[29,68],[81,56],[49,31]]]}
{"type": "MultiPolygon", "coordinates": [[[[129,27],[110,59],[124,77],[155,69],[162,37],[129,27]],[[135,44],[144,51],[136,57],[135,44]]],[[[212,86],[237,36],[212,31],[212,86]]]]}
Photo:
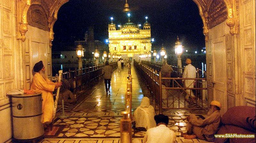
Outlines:
{"type": "Polygon", "coordinates": [[[116,25],[111,22],[108,25],[108,40],[111,54],[139,59],[140,54],[151,52],[150,24],[146,21],[141,29],[129,20],[116,30],[116,25]]]}

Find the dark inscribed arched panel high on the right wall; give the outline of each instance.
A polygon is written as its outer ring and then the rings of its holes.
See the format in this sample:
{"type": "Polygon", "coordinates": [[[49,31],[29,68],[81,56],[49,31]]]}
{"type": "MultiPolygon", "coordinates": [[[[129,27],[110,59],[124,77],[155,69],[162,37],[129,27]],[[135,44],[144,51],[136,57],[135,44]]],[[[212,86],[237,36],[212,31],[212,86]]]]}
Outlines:
{"type": "Polygon", "coordinates": [[[228,18],[227,7],[223,0],[214,0],[208,13],[209,28],[220,24],[228,18]]]}

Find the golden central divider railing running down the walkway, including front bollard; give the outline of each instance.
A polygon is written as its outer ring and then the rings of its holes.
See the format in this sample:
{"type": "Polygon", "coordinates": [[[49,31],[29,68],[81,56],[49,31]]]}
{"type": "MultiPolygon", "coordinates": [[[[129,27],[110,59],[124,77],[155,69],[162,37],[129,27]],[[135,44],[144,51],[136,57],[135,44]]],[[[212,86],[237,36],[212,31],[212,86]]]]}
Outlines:
{"type": "Polygon", "coordinates": [[[125,111],[120,120],[120,141],[121,143],[132,143],[132,75],[131,65],[128,65],[128,81],[125,93],[125,111]]]}

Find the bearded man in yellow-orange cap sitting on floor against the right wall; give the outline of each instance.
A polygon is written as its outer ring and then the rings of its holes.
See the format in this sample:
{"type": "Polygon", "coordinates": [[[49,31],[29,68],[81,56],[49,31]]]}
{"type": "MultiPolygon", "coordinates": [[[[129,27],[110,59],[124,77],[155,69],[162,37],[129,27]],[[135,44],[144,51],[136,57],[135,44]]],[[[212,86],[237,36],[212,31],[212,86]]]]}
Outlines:
{"type": "Polygon", "coordinates": [[[183,135],[185,139],[202,139],[213,141],[214,134],[218,131],[220,124],[220,102],[212,101],[210,103],[209,111],[207,117],[203,119],[197,119],[193,114],[189,115],[187,118],[187,134],[183,135]]]}

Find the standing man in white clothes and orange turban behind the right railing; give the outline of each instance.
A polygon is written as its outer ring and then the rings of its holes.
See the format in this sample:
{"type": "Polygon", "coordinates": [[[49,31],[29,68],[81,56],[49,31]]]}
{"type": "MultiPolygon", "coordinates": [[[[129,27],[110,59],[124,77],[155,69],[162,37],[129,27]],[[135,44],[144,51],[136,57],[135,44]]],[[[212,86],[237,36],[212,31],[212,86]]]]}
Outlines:
{"type": "MultiPolygon", "coordinates": [[[[186,66],[184,68],[184,72],[182,75],[182,78],[196,78],[196,68],[191,64],[190,59],[186,59],[186,66]]],[[[194,88],[194,79],[185,79],[184,80],[184,87],[187,88],[194,88]]],[[[194,95],[193,91],[190,89],[186,89],[186,99],[189,98],[189,96],[195,100],[196,96],[194,95]]]]}

